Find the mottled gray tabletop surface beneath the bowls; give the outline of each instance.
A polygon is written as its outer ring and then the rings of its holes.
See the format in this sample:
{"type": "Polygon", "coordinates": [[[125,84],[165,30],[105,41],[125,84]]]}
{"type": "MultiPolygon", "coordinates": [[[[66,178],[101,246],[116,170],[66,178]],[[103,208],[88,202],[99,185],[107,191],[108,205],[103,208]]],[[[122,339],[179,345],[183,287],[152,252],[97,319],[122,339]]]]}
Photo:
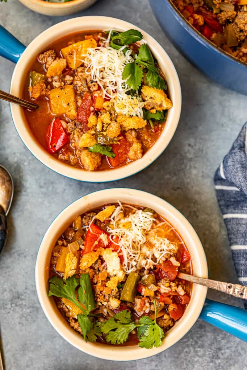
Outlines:
{"type": "MultiPolygon", "coordinates": [[[[146,360],[118,363],[96,359],[72,347],[41,310],[34,264],[44,232],[75,199],[114,186],[146,190],[176,206],[201,238],[209,276],[237,282],[213,175],[246,120],[246,97],[213,83],[189,64],[161,31],[147,0],[99,0],[79,15],[118,17],[157,39],[180,77],[181,119],[168,148],[149,168],[121,181],[88,184],[64,178],[39,163],[17,135],[9,104],[0,101],[0,163],[9,169],[15,185],[8,216],[9,240],[0,257],[0,329],[6,369],[244,369],[246,343],[201,320],[167,351],[146,360]]],[[[34,13],[17,0],[0,3],[0,23],[26,45],[64,19],[34,13]]],[[[0,58],[2,90],[9,91],[13,70],[13,63],[0,58]]],[[[208,297],[242,307],[240,300],[223,293],[210,290],[208,297]]]]}

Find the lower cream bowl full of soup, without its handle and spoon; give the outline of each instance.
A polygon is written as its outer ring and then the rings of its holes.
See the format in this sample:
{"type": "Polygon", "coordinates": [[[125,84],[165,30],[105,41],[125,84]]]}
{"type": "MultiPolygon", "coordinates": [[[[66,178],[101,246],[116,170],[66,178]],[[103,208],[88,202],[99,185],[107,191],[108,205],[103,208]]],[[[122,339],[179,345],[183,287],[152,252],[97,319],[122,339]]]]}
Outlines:
{"type": "Polygon", "coordinates": [[[126,361],[167,349],[198,318],[207,289],[178,272],[207,277],[192,226],[163,199],[116,188],[86,195],[57,216],[35,274],[42,309],[64,339],[126,361]]]}

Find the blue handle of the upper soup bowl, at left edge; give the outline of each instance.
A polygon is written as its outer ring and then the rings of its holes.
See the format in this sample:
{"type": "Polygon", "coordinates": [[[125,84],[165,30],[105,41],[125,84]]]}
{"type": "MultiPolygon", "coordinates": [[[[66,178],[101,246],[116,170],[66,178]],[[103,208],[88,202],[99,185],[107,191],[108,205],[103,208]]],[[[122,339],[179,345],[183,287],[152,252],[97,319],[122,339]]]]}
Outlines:
{"type": "Polygon", "coordinates": [[[0,25],[0,55],[17,63],[26,46],[0,25]]]}

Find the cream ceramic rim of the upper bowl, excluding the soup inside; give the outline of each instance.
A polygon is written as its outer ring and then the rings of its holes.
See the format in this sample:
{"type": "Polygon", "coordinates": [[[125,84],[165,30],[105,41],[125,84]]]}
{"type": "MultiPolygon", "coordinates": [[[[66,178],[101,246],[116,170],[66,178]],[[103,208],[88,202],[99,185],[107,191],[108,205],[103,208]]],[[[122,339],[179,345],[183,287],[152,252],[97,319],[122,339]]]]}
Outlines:
{"type": "Polygon", "coordinates": [[[29,44],[29,46],[27,46],[26,50],[24,50],[19,61],[17,62],[11,80],[10,93],[18,97],[22,97],[24,82],[31,64],[37,55],[54,40],[77,31],[107,30],[109,28],[120,31],[136,28],[137,30],[141,31],[144,36],[144,41],[150,46],[151,51],[158,60],[161,70],[166,76],[169,94],[173,102],[173,107],[168,111],[167,122],[160,137],[141,159],[138,159],[137,161],[126,166],[107,171],[89,172],[84,171],[83,169],[73,168],[72,166],[66,165],[63,162],[55,159],[38,144],[26,123],[23,108],[19,107],[18,105],[10,104],[14,125],[30,152],[37,159],[39,159],[40,162],[53,171],[76,180],[89,182],[114,181],[141,171],[150,165],[167,147],[177,128],[180,117],[180,83],[175,67],[167,53],[160,46],[160,44],[158,44],[157,41],[155,41],[154,38],[148,35],[145,31],[131,23],[110,17],[90,16],[69,19],[42,32],[29,44]]]}

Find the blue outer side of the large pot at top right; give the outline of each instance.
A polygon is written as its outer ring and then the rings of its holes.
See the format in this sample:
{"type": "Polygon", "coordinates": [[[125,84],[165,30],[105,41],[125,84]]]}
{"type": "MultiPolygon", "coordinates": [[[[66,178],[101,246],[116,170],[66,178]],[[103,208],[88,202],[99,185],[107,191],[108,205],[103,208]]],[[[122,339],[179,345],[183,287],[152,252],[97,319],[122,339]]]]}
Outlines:
{"type": "Polygon", "coordinates": [[[149,0],[161,28],[200,71],[221,85],[247,95],[247,64],[217,48],[181,15],[170,0],[149,0]]]}

